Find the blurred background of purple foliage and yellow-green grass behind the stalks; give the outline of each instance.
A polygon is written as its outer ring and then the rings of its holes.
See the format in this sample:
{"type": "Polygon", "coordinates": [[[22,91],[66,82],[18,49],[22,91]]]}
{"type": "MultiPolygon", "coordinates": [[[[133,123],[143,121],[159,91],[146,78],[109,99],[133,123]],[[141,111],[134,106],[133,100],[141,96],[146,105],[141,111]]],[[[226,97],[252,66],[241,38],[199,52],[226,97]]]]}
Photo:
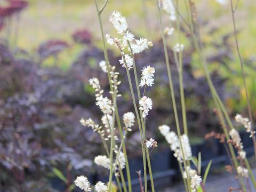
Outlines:
{"type": "MultiPolygon", "coordinates": [[[[229,1],[194,2],[214,85],[231,117],[236,113],[248,116],[229,1]]],[[[101,3],[103,1],[99,0],[101,3]]],[[[247,0],[239,1],[235,12],[254,119],[255,10],[255,2],[247,0]]],[[[177,162],[158,132],[158,126],[162,124],[176,129],[157,7],[153,0],[110,0],[102,13],[105,34],[115,34],[108,22],[113,11],[120,11],[126,17],[135,36],[154,43],[151,49],[136,55],[135,59],[138,71],[146,65],[156,68],[155,86],[148,89],[154,104],[149,113],[147,134],[158,142],[157,150],[152,153],[158,186],[168,187],[171,182],[178,182],[180,174],[177,162]],[[163,162],[161,165],[159,158],[163,162]]],[[[184,7],[181,12],[186,17],[184,7]]],[[[175,28],[167,15],[163,14],[163,17],[165,27],[175,28]]],[[[221,126],[189,33],[183,26],[181,30],[181,42],[185,44],[184,86],[193,155],[202,151],[205,164],[215,159],[211,173],[219,174],[228,164],[226,151],[217,139],[205,140],[205,134],[221,133],[221,126]]],[[[174,87],[179,90],[171,51],[175,43],[175,36],[168,37],[174,87]]],[[[119,92],[123,97],[118,100],[118,107],[123,114],[133,110],[127,92],[128,82],[124,69],[119,67],[119,53],[114,47],[108,47],[108,53],[111,65],[121,73],[119,92]]],[[[88,80],[98,77],[103,89],[109,89],[107,76],[98,66],[103,59],[93,0],[0,0],[0,191],[75,191],[72,183],[78,174],[87,175],[92,183],[108,178],[106,170],[93,163],[94,156],[103,153],[100,138],[79,123],[82,117],[100,122],[100,111],[95,106],[94,92],[88,80]]],[[[179,91],[176,92],[181,113],[179,91]]],[[[236,127],[241,130],[244,147],[250,154],[252,145],[248,135],[242,127],[236,127]]],[[[135,171],[143,167],[136,125],[128,135],[127,150],[136,186],[138,175],[135,171]]]]}

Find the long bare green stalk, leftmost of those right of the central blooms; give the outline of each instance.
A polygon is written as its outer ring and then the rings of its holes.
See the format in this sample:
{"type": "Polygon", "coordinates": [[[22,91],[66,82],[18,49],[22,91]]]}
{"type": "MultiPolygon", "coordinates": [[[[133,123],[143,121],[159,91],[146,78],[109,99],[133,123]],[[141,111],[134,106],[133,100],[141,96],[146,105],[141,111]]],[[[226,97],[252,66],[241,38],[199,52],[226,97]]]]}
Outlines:
{"type": "MultiPolygon", "coordinates": [[[[168,52],[167,52],[166,39],[165,39],[165,36],[164,36],[164,29],[163,29],[163,23],[162,23],[161,9],[160,9],[160,7],[158,5],[157,0],[156,0],[156,4],[157,4],[157,8],[158,8],[158,16],[159,16],[159,21],[160,21],[161,31],[162,31],[162,39],[163,39],[163,45],[164,45],[165,62],[166,62],[167,74],[168,74],[169,85],[170,85],[170,90],[171,90],[171,98],[172,98],[172,105],[173,105],[173,111],[174,111],[174,118],[175,118],[175,123],[176,123],[176,126],[177,126],[177,132],[178,132],[178,136],[179,136],[179,142],[180,142],[180,148],[181,148],[183,163],[184,163],[186,174],[188,175],[187,163],[185,161],[185,155],[184,155],[184,151],[183,151],[183,147],[182,147],[182,142],[181,142],[181,132],[180,132],[180,125],[179,125],[178,111],[177,111],[175,95],[174,95],[174,89],[173,89],[173,82],[172,82],[172,75],[171,75],[169,56],[168,56],[168,52]]],[[[187,186],[188,186],[188,189],[190,191],[190,185],[189,185],[189,178],[188,177],[187,177],[187,186]]]]}

